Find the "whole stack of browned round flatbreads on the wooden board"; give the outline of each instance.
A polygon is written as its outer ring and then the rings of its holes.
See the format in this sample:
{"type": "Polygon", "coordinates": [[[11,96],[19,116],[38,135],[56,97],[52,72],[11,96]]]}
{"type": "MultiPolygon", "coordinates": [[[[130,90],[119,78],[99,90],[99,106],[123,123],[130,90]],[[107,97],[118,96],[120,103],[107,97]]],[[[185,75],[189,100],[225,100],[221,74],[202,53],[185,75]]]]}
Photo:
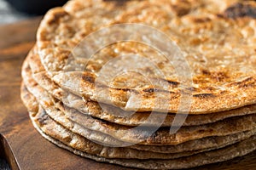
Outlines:
{"type": "Polygon", "coordinates": [[[255,11],[254,1],[236,0],[73,0],[51,9],[22,67],[21,98],[33,126],[74,154],[125,167],[181,169],[252,152],[255,11]],[[106,40],[90,35],[125,23],[162,32],[176,44],[163,49],[178,48],[186,64],[172,65],[175,50],[166,57],[144,43],[154,32],[87,53],[106,40]]]}

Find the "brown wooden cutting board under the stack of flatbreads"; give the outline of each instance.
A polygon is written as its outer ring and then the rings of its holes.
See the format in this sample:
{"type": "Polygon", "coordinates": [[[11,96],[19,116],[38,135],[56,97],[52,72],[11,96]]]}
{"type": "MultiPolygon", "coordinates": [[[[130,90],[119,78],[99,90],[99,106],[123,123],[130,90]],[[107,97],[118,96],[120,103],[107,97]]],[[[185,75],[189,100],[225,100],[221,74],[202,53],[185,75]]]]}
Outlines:
{"type": "MultiPolygon", "coordinates": [[[[20,100],[20,67],[35,43],[40,20],[0,26],[0,157],[12,169],[131,169],[75,156],[49,143],[32,127],[20,100]]],[[[256,152],[196,169],[256,169],[256,152]]]]}

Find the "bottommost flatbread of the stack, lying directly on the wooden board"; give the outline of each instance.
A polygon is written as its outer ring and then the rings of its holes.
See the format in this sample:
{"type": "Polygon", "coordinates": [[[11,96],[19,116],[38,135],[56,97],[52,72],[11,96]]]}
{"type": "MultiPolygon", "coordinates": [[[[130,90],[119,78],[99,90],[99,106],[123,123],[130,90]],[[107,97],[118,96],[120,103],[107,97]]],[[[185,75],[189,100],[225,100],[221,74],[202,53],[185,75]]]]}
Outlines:
{"type": "MultiPolygon", "coordinates": [[[[25,87],[21,87],[21,89],[25,89],[25,87]]],[[[148,159],[144,161],[137,159],[109,159],[102,156],[112,156],[111,154],[109,155],[108,152],[110,148],[101,146],[99,144],[94,144],[90,142],[90,140],[81,138],[79,135],[71,133],[60,124],[54,122],[52,119],[50,119],[42,107],[38,107],[38,105],[31,105],[34,104],[34,102],[26,102],[27,100],[31,100],[33,98],[32,95],[27,95],[26,92],[21,90],[21,98],[28,107],[28,111],[30,111],[29,113],[34,127],[36,127],[38,132],[41,133],[45,139],[57,144],[61,148],[73,151],[73,153],[79,156],[84,156],[96,161],[107,161],[125,167],[139,167],[145,169],[180,169],[201,166],[218,161],[226,161],[236,156],[246,155],[247,153],[256,149],[256,140],[255,136],[253,136],[250,139],[243,140],[240,143],[230,145],[224,149],[212,150],[197,154],[195,156],[177,159],[148,159]]],[[[35,101],[35,98],[32,100],[35,101]]],[[[113,148],[113,150],[118,149],[113,148]]],[[[110,152],[113,150],[110,150],[110,152]]],[[[121,154],[120,152],[122,151],[123,150],[118,150],[114,154],[121,154]]]]}

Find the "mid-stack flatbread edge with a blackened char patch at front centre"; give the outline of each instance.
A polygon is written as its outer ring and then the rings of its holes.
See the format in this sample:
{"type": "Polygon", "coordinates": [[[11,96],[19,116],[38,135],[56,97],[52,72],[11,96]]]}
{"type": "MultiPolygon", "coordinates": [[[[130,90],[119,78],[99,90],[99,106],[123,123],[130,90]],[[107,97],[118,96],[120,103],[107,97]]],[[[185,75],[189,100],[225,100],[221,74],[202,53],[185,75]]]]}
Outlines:
{"type": "MultiPolygon", "coordinates": [[[[62,120],[61,111],[55,111],[55,100],[44,90],[38,86],[38,83],[32,79],[32,72],[27,62],[22,68],[22,77],[26,88],[38,99],[40,105],[51,114],[50,116],[59,119],[62,125],[67,125],[67,120],[62,120]]],[[[73,116],[76,118],[76,116],[73,116]]],[[[76,119],[76,122],[81,120],[76,119]]],[[[111,122],[102,122],[92,116],[86,117],[80,125],[90,130],[106,133],[115,139],[125,143],[132,144],[182,144],[183,142],[201,139],[209,136],[225,136],[234,133],[241,133],[252,130],[256,127],[256,115],[235,116],[223,121],[214,122],[207,125],[195,127],[181,127],[177,133],[171,134],[169,128],[160,127],[156,132],[150,133],[148,128],[131,128],[114,124],[111,122]]],[[[150,130],[150,128],[149,128],[150,130]]]]}

